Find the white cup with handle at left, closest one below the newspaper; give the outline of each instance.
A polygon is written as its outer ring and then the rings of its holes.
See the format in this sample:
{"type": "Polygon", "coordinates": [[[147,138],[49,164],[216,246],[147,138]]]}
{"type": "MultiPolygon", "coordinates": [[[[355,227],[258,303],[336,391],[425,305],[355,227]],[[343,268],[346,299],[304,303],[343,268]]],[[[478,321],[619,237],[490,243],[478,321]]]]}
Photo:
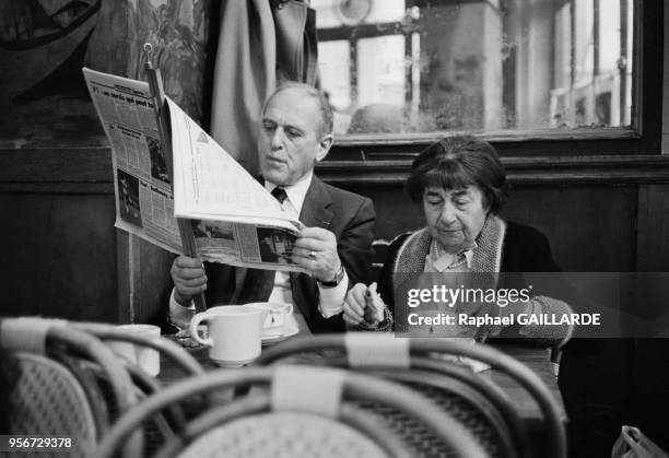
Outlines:
{"type": "Polygon", "coordinates": [[[225,305],[197,314],[190,320],[190,336],[209,347],[209,359],[224,367],[239,367],[260,355],[260,334],[268,312],[257,307],[225,305]],[[198,326],[207,322],[209,337],[202,339],[198,326]]]}

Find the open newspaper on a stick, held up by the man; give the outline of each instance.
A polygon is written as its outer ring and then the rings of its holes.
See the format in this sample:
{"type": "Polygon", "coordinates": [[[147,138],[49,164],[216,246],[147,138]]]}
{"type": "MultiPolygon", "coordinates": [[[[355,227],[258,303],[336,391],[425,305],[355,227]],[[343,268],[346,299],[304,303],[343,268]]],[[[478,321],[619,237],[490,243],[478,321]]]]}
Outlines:
{"type": "Polygon", "coordinates": [[[111,144],[117,227],[181,254],[176,218],[185,218],[204,260],[302,270],[291,260],[302,223],[173,101],[172,138],[161,139],[148,83],[83,73],[111,144]],[[174,183],[163,141],[172,144],[174,183]]]}

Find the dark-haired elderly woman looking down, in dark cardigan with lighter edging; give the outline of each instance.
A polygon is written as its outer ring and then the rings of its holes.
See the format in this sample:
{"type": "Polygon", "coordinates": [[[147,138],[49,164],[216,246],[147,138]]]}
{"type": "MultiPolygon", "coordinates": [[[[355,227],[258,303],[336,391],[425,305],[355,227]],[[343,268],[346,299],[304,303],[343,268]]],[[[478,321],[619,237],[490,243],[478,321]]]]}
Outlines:
{"type": "MultiPolygon", "coordinates": [[[[406,190],[423,209],[426,227],[403,234],[391,243],[379,279],[380,296],[376,284],[357,283],[349,291],[343,317],[350,327],[390,330],[394,310],[399,312],[400,301],[407,301],[402,284],[411,274],[422,278],[423,285],[425,279],[431,283],[436,275],[458,279],[455,284],[450,281],[451,287],[458,287],[460,279],[469,278],[478,279],[473,281],[478,289],[498,291],[527,286],[521,274],[501,275],[498,272],[559,271],[543,234],[503,221],[497,215],[508,185],[500,157],[490,143],[472,137],[451,137],[427,146],[413,162],[406,190]]],[[[445,283],[448,284],[448,280],[445,283]]],[[[536,293],[536,290],[525,291],[536,293]]],[[[556,298],[527,294],[505,306],[485,308],[481,304],[469,304],[459,312],[538,317],[542,314],[562,316],[571,309],[556,298]]],[[[486,330],[486,334],[528,337],[559,347],[570,338],[572,327],[568,324],[519,325],[515,320],[507,328],[489,326],[486,330]]],[[[476,330],[479,337],[480,331],[476,330]]]]}

